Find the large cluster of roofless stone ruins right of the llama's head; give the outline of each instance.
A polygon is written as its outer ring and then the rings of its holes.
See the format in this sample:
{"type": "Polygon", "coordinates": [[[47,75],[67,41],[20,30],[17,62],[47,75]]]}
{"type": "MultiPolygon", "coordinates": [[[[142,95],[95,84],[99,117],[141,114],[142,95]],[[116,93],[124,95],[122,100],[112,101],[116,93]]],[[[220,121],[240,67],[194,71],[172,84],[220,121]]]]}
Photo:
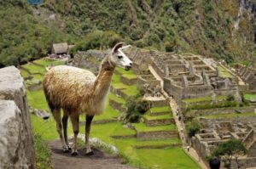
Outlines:
{"type": "Polygon", "coordinates": [[[203,59],[195,54],[174,54],[132,48],[133,68],[140,82],[148,79],[149,86],[156,86],[154,77],[142,72],[152,66],[164,80],[165,91],[180,103],[182,99],[238,93],[238,80],[220,76],[213,59],[203,59]]]}

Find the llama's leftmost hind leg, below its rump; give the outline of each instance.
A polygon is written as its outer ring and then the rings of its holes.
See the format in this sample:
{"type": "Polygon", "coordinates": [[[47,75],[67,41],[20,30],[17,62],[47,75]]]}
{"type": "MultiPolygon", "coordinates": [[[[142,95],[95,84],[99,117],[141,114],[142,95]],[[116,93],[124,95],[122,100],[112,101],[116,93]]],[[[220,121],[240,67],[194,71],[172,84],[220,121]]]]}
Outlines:
{"type": "Polygon", "coordinates": [[[62,144],[62,149],[63,152],[67,152],[67,144],[65,143],[63,134],[62,134],[62,125],[61,125],[61,109],[54,109],[52,110],[52,114],[55,118],[56,121],[56,128],[57,128],[57,132],[59,133],[59,136],[61,138],[61,144],[62,144]]]}

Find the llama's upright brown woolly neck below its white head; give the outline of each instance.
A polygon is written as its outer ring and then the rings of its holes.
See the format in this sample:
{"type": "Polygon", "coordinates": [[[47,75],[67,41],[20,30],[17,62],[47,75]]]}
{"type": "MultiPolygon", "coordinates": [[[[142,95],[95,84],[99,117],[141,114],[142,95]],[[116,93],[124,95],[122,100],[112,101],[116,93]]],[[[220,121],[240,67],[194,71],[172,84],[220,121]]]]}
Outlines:
{"type": "Polygon", "coordinates": [[[111,65],[107,59],[102,62],[102,68],[99,71],[94,83],[95,90],[93,95],[98,99],[98,101],[105,99],[106,95],[108,94],[113,76],[113,70],[114,66],[111,65]]]}

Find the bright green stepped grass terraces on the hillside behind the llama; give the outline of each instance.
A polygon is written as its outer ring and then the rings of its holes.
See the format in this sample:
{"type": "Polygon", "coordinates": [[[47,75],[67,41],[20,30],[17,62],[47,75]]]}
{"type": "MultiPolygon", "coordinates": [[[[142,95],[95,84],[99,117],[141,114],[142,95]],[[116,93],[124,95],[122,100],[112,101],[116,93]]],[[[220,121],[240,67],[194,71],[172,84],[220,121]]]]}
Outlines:
{"type": "MultiPolygon", "coordinates": [[[[35,63],[23,65],[21,74],[27,79],[26,87],[31,87],[35,80],[38,82],[42,80],[46,72],[45,65],[60,64],[62,63],[40,59],[35,63]]],[[[144,122],[134,124],[132,129],[117,120],[120,111],[126,110],[127,98],[138,92],[134,84],[136,78],[132,71],[116,70],[108,96],[109,103],[105,113],[94,119],[91,138],[100,138],[107,144],[113,144],[119,149],[119,155],[123,157],[125,163],[139,168],[199,168],[181,147],[177,127],[172,121],[172,110],[168,105],[152,107],[143,116],[144,122]]],[[[32,108],[49,110],[40,86],[34,90],[28,89],[27,97],[32,108]]],[[[58,138],[53,118],[44,121],[32,114],[31,119],[33,131],[42,138],[45,140],[58,138]]],[[[80,132],[84,133],[84,115],[80,117],[80,121],[80,132]]],[[[73,133],[71,125],[68,126],[68,133],[73,133]]]]}

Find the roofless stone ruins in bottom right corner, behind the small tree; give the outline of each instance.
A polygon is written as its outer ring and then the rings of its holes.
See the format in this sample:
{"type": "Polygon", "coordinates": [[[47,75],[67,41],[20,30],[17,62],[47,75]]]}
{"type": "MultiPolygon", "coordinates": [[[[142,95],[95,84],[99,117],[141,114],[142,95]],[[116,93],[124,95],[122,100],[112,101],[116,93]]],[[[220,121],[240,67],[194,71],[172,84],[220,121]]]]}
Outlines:
{"type": "MultiPolygon", "coordinates": [[[[256,166],[255,126],[242,122],[218,121],[213,127],[201,131],[204,131],[204,133],[195,134],[191,144],[203,159],[211,155],[211,152],[216,149],[218,144],[235,138],[241,140],[247,149],[247,155],[239,159],[242,168],[256,166]]],[[[232,161],[232,166],[236,166],[235,161],[232,161]]]]}

